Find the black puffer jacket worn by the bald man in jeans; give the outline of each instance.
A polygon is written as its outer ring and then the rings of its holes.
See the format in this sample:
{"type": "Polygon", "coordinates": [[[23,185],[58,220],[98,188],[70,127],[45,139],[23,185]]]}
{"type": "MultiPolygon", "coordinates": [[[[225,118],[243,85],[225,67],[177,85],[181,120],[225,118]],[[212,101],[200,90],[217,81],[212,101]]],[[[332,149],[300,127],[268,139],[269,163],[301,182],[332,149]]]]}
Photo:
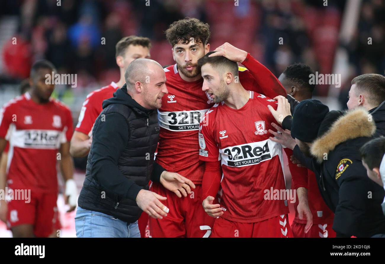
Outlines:
{"type": "Polygon", "coordinates": [[[132,99],[126,85],[104,100],[103,109],[92,130],[78,205],[132,223],[142,213],[136,196],[148,189],[153,172],[157,112],[132,99]]]}

